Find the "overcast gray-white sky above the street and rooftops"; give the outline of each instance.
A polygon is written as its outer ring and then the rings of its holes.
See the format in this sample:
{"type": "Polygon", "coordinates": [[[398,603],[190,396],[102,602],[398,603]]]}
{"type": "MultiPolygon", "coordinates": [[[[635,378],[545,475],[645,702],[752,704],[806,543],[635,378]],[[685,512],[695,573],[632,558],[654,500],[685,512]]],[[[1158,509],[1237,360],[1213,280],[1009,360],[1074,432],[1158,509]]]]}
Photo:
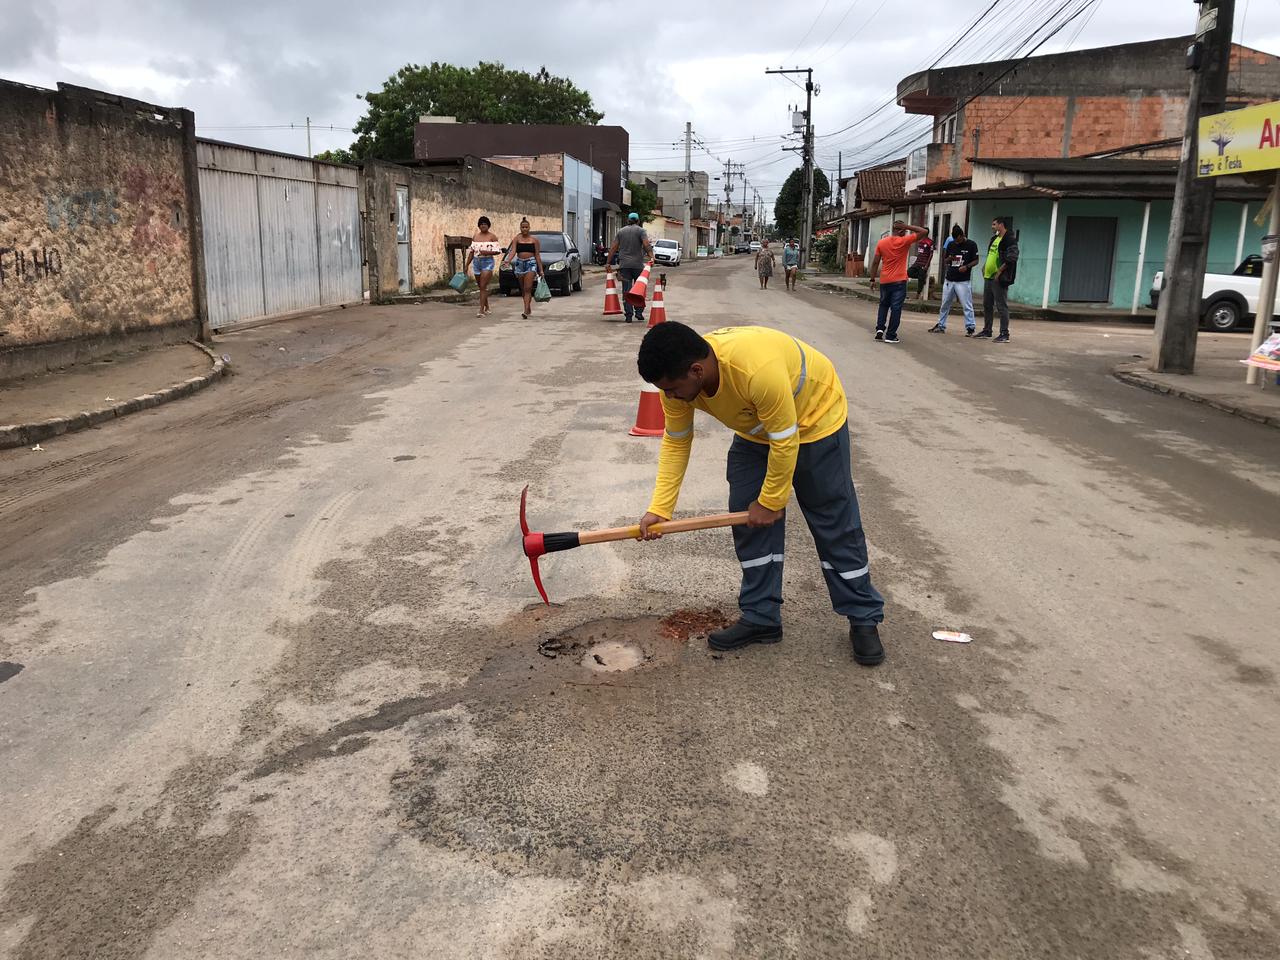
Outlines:
{"type": "MultiPolygon", "coordinates": [[[[1007,55],[1043,12],[1065,1],[1000,0],[1007,12],[997,8],[1004,15],[961,40],[988,0],[311,0],[305,8],[270,0],[0,0],[0,78],[44,87],[61,81],[186,106],[202,136],[305,154],[306,116],[315,151],[349,145],[349,128],[364,113],[357,95],[379,88],[406,63],[545,64],[588,90],[604,123],[627,128],[636,169],[682,166],[682,143],[673,145],[690,120],[705,145],[694,166],[718,175],[723,161],[742,161],[772,205],[796,165],[778,138],[790,129],[787,106],[804,92],[764,76],[765,68],[815,68],[822,92],[814,124],[819,137],[827,134],[818,159],[833,170],[844,151],[847,170],[886,150],[905,152],[914,128],[902,128],[908,118],[896,106],[831,136],[890,101],[902,77],[943,51],[943,63],[1007,55]],[[289,123],[298,129],[262,129],[289,123]]],[[[1280,3],[1236,0],[1236,8],[1235,38],[1280,54],[1280,3]]],[[[1185,35],[1194,18],[1185,0],[1100,0],[1092,17],[1073,22],[1041,52],[1185,35]]]]}

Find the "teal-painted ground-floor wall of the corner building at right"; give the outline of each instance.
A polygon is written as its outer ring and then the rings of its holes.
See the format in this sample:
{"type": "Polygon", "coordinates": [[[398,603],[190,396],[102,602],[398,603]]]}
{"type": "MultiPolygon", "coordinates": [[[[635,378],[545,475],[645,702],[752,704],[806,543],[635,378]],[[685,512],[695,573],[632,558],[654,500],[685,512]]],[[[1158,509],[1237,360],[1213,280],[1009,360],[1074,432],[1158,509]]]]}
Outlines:
{"type": "MultiPolygon", "coordinates": [[[[1050,280],[1050,306],[1060,303],[1062,283],[1062,250],[1066,244],[1066,219],[1069,216],[1116,218],[1115,261],[1111,275],[1111,300],[1106,305],[1119,308],[1133,306],[1134,279],[1138,276],[1138,248],[1142,239],[1142,219],[1146,204],[1138,200],[1064,200],[1057,212],[1057,236],[1053,242],[1053,275],[1050,280]]],[[[1213,209],[1213,228],[1210,234],[1208,273],[1229,274],[1239,265],[1240,214],[1247,206],[1243,253],[1262,252],[1262,228],[1253,223],[1261,202],[1249,205],[1220,201],[1213,209]]],[[[986,256],[991,239],[991,220],[995,216],[1012,216],[1019,232],[1018,280],[1009,288],[1009,298],[1019,303],[1041,306],[1044,296],[1044,269],[1048,260],[1048,229],[1053,202],[1051,200],[974,200],[972,202],[972,238],[986,256]]],[[[1138,283],[1138,306],[1147,306],[1151,283],[1158,270],[1165,269],[1169,241],[1169,220],[1172,201],[1156,200],[1151,204],[1151,223],[1147,229],[1147,253],[1143,257],[1142,278],[1138,283]]],[[[980,293],[983,280],[974,270],[974,292],[980,293]]]]}

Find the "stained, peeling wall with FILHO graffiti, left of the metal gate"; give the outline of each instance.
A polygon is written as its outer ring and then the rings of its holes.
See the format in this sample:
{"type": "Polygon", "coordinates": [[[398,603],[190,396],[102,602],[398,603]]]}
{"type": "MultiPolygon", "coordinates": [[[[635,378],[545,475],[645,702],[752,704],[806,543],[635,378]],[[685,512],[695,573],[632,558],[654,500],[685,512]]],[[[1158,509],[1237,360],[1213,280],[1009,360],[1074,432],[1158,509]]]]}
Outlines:
{"type": "Polygon", "coordinates": [[[0,375],[198,335],[192,114],[0,81],[0,375]]]}

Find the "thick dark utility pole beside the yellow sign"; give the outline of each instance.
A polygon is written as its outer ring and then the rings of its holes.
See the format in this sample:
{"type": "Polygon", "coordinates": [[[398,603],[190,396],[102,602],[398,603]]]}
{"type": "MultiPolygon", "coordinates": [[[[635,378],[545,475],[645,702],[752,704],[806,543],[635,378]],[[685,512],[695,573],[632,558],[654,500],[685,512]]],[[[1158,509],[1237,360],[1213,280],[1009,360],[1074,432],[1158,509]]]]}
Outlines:
{"type": "Polygon", "coordinates": [[[1234,19],[1235,0],[1202,0],[1196,42],[1187,51],[1192,83],[1187,99],[1183,160],[1169,224],[1165,285],[1156,311],[1151,369],[1157,372],[1189,374],[1196,369],[1196,333],[1217,186],[1212,177],[1199,178],[1196,174],[1199,118],[1226,110],[1234,19]]]}

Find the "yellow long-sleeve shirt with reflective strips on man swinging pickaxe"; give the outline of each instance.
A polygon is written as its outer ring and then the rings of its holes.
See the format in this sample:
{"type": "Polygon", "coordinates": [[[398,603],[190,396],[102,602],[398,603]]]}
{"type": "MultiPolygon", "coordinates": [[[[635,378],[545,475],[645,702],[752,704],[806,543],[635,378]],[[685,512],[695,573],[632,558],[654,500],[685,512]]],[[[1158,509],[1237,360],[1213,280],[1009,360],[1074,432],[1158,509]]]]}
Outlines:
{"type": "Polygon", "coordinates": [[[663,394],[667,430],[658,456],[658,481],[649,512],[671,518],[694,445],[694,410],[703,410],[745,440],[769,447],[769,465],[756,498],[782,509],[801,443],[831,436],[849,417],[845,388],[832,362],[803,340],[767,326],[727,326],[704,337],[719,365],[714,397],[691,402],[663,394]]]}

